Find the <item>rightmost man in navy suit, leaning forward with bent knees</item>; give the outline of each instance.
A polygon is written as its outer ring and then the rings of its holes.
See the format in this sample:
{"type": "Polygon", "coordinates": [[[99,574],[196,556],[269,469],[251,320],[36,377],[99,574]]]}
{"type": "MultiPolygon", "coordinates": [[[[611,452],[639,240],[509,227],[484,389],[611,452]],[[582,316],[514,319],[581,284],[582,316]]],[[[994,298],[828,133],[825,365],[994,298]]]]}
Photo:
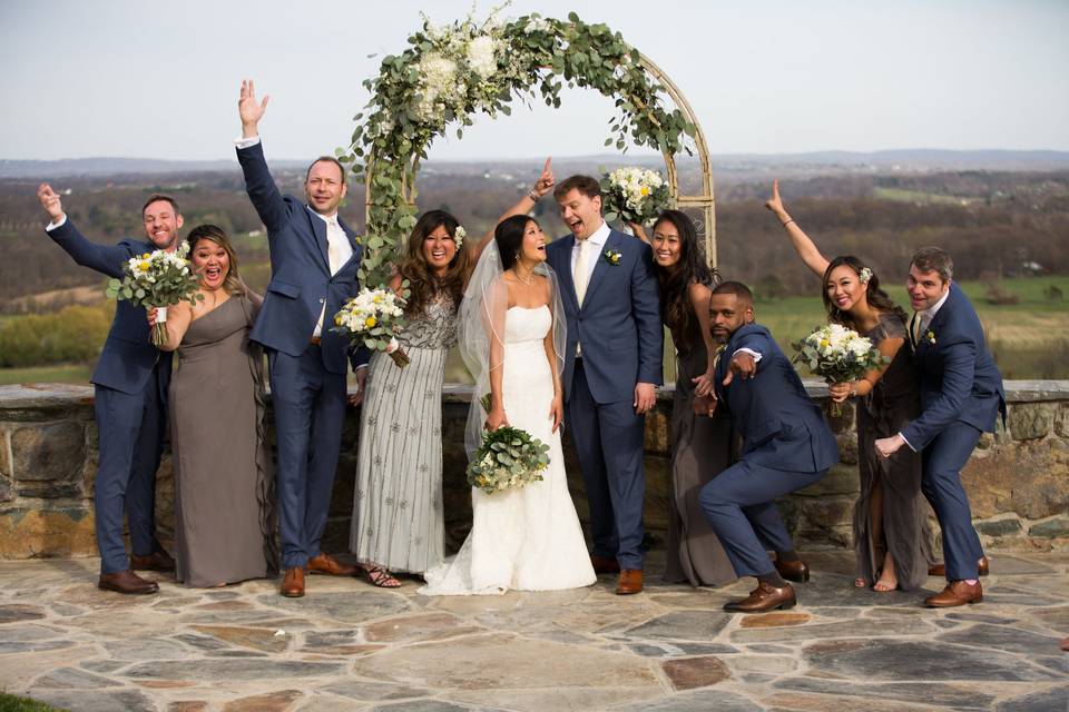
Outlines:
{"type": "Polygon", "coordinates": [[[921,491],[943,533],[947,587],[924,600],[950,607],[983,600],[979,575],[988,560],[972,527],[961,468],[980,434],[994,432],[1006,394],[969,298],[953,284],[954,265],[939,247],[919,250],[910,261],[905,286],[915,314],[910,323],[913,359],[921,376],[921,415],[901,433],[876,441],[890,457],[900,447],[921,453],[921,491]]]}

